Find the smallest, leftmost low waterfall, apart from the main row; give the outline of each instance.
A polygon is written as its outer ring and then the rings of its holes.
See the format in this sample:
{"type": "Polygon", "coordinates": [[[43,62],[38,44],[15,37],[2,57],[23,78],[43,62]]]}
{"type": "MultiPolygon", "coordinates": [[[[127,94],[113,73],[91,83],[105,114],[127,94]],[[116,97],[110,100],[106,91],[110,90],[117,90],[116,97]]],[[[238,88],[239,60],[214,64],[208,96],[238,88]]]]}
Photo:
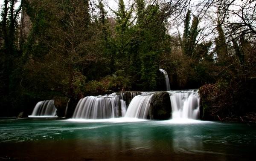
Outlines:
{"type": "Polygon", "coordinates": [[[31,116],[56,116],[56,111],[54,100],[40,101],[36,103],[31,116]]]}

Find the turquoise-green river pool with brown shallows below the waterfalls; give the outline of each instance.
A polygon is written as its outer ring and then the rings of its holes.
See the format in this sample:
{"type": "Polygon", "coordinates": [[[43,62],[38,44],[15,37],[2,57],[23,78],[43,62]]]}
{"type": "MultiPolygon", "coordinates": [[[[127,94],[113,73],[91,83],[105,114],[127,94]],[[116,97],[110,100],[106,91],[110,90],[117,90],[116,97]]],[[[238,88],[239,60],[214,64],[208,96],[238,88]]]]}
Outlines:
{"type": "Polygon", "coordinates": [[[251,160],[256,124],[0,119],[0,160],[251,160]]]}

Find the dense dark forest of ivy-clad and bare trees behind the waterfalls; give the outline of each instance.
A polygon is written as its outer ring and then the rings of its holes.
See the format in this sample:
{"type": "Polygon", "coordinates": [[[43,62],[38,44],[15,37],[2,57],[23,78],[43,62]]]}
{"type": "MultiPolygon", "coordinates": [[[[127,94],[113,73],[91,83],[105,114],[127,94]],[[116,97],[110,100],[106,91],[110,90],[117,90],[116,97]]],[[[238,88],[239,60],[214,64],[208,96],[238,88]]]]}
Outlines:
{"type": "Polygon", "coordinates": [[[255,0],[4,0],[0,117],[47,99],[199,89],[205,120],[256,121],[255,0]]]}

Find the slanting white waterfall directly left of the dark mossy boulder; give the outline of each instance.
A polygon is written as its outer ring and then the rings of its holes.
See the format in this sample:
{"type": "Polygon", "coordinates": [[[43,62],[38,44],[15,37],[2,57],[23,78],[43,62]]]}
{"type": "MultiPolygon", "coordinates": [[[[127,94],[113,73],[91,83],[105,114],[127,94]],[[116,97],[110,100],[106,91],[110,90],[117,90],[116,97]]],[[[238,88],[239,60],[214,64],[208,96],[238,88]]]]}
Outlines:
{"type": "Polygon", "coordinates": [[[153,94],[135,96],[128,106],[125,117],[146,119],[152,96],[153,94]]]}

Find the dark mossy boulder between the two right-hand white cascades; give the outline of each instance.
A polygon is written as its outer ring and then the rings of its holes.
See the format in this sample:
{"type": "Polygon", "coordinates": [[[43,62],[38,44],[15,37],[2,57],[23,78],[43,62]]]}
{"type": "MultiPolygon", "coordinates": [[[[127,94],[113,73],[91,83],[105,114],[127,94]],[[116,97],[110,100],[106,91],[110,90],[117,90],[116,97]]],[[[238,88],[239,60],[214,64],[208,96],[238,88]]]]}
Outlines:
{"type": "Polygon", "coordinates": [[[151,98],[149,118],[154,120],[169,120],[172,106],[168,92],[157,92],[151,98]]]}

